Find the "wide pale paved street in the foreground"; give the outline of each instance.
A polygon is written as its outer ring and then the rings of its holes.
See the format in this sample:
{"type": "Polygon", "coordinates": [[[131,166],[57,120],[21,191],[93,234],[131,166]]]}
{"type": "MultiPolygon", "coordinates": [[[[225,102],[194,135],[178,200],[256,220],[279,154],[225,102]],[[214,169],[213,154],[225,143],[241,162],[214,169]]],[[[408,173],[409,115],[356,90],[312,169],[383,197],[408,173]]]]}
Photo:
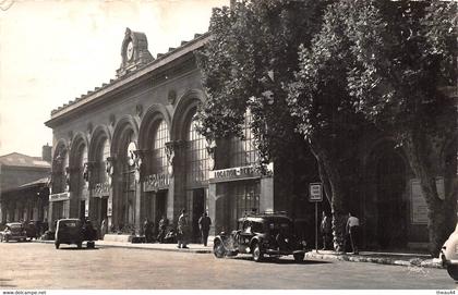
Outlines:
{"type": "MultiPolygon", "coordinates": [[[[184,250],[183,250],[184,251],[184,250]]],[[[443,269],[0,243],[1,288],[456,288],[443,269]]]]}

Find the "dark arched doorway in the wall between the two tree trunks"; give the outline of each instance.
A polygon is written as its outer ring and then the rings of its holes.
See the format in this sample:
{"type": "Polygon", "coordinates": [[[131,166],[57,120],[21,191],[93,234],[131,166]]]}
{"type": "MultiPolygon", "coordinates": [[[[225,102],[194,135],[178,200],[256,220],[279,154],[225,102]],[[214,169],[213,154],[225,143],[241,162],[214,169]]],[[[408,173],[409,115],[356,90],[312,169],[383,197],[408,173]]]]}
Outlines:
{"type": "Polygon", "coordinates": [[[405,248],[408,242],[406,164],[395,150],[382,153],[376,163],[376,239],[383,249],[405,248]]]}

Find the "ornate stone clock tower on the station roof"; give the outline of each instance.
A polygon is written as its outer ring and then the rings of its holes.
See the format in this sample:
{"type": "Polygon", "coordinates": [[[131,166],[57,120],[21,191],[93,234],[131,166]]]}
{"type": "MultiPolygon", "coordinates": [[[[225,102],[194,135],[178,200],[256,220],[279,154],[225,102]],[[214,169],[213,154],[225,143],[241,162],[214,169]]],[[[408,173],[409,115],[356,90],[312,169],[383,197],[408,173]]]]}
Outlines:
{"type": "Polygon", "coordinates": [[[117,70],[117,76],[135,71],[142,65],[154,60],[148,51],[148,40],[144,33],[133,32],[125,28],[124,40],[121,46],[121,66],[117,70]]]}

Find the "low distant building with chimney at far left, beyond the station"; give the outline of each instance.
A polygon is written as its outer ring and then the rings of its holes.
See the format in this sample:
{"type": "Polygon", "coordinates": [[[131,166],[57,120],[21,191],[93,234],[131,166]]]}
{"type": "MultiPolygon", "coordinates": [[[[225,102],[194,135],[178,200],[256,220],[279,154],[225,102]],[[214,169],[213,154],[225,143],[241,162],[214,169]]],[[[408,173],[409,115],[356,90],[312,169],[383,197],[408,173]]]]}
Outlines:
{"type": "Polygon", "coordinates": [[[0,222],[47,220],[51,147],[43,156],[19,152],[0,157],[0,222]]]}

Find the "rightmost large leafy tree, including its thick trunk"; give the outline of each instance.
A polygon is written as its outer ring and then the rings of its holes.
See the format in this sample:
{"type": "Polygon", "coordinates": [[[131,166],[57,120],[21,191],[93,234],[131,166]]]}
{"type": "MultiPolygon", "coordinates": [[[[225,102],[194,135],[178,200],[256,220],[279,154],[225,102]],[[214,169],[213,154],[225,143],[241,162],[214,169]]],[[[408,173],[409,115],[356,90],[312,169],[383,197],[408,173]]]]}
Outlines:
{"type": "Polygon", "coordinates": [[[357,61],[347,75],[350,96],[357,111],[406,150],[427,204],[429,248],[437,255],[456,225],[457,113],[443,89],[457,86],[457,3],[364,0],[352,5],[346,20],[357,61]],[[438,175],[449,187],[444,199],[438,175]]]}

